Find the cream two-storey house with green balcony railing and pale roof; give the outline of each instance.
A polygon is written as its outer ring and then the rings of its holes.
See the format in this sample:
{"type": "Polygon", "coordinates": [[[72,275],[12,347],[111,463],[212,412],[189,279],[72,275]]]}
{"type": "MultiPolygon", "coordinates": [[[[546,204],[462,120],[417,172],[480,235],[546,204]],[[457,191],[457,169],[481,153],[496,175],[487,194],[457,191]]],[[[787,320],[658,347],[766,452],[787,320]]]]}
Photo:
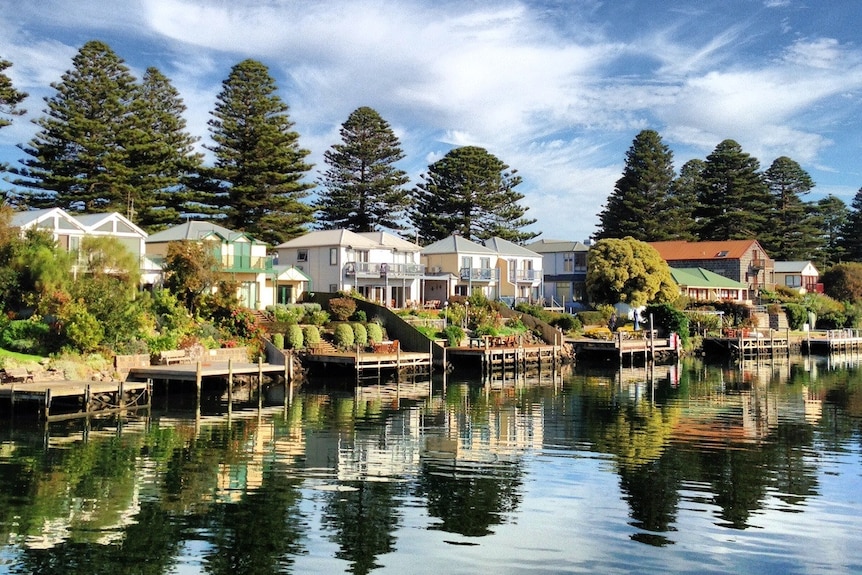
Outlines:
{"type": "Polygon", "coordinates": [[[272,278],[276,270],[265,243],[212,222],[189,221],[147,238],[147,255],[161,265],[171,242],[206,246],[219,262],[219,273],[237,283],[237,296],[245,306],[263,309],[274,303],[272,278]]]}

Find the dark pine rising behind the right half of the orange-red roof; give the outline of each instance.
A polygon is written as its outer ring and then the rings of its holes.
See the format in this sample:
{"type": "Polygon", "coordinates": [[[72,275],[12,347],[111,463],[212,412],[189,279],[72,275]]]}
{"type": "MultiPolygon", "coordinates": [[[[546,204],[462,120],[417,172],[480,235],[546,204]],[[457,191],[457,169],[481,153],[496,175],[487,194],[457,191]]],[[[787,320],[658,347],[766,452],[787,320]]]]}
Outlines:
{"type": "Polygon", "coordinates": [[[760,162],[733,140],[706,158],[695,217],[701,240],[755,239],[766,229],[772,206],[760,162]]]}

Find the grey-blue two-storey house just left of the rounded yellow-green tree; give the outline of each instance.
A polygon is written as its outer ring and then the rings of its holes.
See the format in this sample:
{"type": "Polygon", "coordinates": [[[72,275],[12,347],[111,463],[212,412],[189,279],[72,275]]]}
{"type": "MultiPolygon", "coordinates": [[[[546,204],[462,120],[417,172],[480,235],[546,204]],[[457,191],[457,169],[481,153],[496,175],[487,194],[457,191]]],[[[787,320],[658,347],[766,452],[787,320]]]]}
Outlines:
{"type": "Polygon", "coordinates": [[[573,312],[587,301],[589,246],[566,240],[538,240],[526,248],[542,256],[545,305],[573,312]]]}

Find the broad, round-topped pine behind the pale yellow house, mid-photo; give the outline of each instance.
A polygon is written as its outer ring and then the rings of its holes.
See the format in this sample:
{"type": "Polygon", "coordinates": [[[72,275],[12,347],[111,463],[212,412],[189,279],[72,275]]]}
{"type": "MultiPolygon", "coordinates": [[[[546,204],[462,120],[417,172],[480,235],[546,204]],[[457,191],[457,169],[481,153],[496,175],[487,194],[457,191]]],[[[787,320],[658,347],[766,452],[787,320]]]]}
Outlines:
{"type": "Polygon", "coordinates": [[[521,177],[483,148],[455,148],[428,166],[413,190],[410,220],[420,241],[434,242],[457,233],[471,240],[500,237],[524,242],[538,234],[520,228],[535,223],[524,218],[515,191],[521,177]]]}

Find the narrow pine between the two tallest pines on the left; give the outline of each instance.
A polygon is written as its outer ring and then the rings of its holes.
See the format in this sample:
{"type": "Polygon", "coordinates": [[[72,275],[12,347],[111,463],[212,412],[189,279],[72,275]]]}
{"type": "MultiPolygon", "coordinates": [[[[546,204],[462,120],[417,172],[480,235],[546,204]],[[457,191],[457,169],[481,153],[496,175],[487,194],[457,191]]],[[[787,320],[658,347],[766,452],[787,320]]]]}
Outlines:
{"type": "Polygon", "coordinates": [[[179,92],[156,68],[147,69],[131,105],[134,167],[128,215],[148,232],[180,223],[178,211],[186,179],[196,174],[202,155],[186,131],[186,107],[179,92]]]}

